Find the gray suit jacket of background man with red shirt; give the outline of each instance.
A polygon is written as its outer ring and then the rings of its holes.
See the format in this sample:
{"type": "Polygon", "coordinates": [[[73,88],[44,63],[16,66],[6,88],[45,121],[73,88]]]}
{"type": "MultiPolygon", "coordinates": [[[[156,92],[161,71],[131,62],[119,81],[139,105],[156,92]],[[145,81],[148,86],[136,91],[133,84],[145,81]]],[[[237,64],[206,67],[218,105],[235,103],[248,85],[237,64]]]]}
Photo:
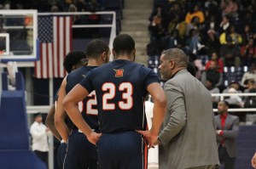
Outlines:
{"type": "Polygon", "coordinates": [[[223,130],[223,136],[217,134],[217,144],[219,146],[224,138],[224,147],[230,157],[236,157],[236,137],[239,132],[239,118],[236,115],[228,115],[225,121],[224,129],[221,127],[220,115],[215,116],[216,129],[223,130]]]}

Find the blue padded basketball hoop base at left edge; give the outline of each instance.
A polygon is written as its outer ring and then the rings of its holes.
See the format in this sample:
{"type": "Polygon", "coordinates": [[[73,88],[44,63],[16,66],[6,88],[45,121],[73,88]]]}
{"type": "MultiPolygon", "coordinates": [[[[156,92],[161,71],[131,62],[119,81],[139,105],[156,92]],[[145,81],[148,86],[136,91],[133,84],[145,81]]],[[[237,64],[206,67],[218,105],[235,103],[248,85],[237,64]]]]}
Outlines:
{"type": "Polygon", "coordinates": [[[0,168],[46,169],[29,146],[24,78],[20,72],[16,73],[16,90],[8,91],[7,73],[3,72],[2,76],[0,168]]]}

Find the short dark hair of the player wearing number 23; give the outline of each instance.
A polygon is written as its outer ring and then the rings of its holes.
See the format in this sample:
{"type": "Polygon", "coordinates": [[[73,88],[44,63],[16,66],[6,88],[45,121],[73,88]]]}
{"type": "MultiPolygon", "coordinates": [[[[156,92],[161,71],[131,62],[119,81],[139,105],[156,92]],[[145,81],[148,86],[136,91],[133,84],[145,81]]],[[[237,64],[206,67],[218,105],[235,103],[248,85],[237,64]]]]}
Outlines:
{"type": "Polygon", "coordinates": [[[135,49],[134,39],[127,34],[120,34],[113,40],[113,50],[117,55],[131,54],[135,49]]]}

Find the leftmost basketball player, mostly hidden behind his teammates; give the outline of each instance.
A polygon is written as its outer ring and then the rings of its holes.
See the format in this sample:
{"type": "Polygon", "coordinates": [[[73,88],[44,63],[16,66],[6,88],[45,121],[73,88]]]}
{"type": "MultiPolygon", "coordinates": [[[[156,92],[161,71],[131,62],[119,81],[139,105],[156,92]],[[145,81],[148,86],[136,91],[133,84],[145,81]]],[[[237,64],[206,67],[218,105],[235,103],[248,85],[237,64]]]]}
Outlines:
{"type": "MultiPolygon", "coordinates": [[[[64,68],[67,71],[67,73],[70,73],[73,70],[79,69],[84,64],[87,64],[86,54],[82,51],[72,51],[68,53],[63,62],[64,68]]],[[[58,93],[59,93],[59,90],[55,95],[55,104],[52,105],[46,117],[46,124],[49,127],[49,130],[54,134],[55,138],[57,138],[61,142],[57,150],[57,161],[58,161],[59,168],[63,168],[62,164],[64,162],[64,158],[66,155],[67,144],[63,140],[61,140],[61,135],[55,128],[55,119],[54,119],[55,105],[57,104],[58,93]]],[[[69,129],[71,130],[71,127],[69,127],[69,129]]]]}

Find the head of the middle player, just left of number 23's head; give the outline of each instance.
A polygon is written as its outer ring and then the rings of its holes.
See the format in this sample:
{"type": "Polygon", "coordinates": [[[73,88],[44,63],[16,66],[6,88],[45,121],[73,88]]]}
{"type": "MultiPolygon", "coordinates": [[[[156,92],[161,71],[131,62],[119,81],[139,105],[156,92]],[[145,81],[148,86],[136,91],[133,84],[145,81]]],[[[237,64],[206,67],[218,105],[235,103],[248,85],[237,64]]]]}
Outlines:
{"type": "Polygon", "coordinates": [[[90,59],[101,59],[103,63],[107,63],[109,61],[110,50],[108,43],[101,39],[94,39],[90,41],[85,53],[89,61],[90,59]]]}

